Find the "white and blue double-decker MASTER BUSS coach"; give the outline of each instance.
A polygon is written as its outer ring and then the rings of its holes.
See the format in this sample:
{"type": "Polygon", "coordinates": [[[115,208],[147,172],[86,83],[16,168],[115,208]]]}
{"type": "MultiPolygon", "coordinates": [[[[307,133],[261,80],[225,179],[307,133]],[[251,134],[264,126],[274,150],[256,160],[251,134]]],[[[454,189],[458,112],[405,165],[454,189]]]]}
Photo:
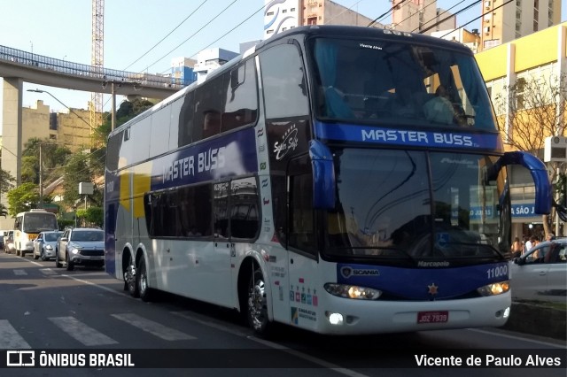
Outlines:
{"type": "Polygon", "coordinates": [[[472,52],[363,27],[296,27],[118,127],[105,268],[322,334],[509,317],[508,165],[472,52]]]}

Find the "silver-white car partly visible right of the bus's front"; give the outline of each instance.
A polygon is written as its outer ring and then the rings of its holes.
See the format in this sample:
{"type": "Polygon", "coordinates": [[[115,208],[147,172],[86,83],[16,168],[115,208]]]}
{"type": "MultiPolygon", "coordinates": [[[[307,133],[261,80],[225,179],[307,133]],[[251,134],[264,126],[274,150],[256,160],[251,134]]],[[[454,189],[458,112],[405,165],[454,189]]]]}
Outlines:
{"type": "Polygon", "coordinates": [[[567,240],[540,242],[511,264],[514,300],[567,302],[567,240]]]}

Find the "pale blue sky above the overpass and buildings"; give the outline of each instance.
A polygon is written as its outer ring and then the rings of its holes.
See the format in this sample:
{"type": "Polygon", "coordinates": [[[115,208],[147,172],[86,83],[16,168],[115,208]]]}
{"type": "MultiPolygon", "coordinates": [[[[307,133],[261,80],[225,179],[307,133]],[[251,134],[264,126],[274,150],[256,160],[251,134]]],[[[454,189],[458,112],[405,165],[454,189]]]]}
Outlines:
{"type": "MultiPolygon", "coordinates": [[[[369,19],[376,19],[392,6],[389,0],[333,1],[369,19]]],[[[561,19],[564,21],[567,4],[562,1],[561,19]]],[[[438,7],[454,7],[451,12],[455,13],[472,3],[475,0],[438,0],[438,7]]],[[[457,26],[477,18],[481,14],[481,4],[458,14],[457,26]]],[[[198,51],[214,47],[238,51],[240,42],[262,38],[263,5],[264,0],[106,0],[105,68],[168,73],[173,58],[196,58],[198,51]]],[[[91,8],[91,0],[0,0],[0,45],[89,65],[91,8]]],[[[388,24],[391,16],[388,13],[380,20],[388,24]]],[[[465,28],[480,28],[480,22],[477,20],[465,28]]],[[[2,84],[0,79],[0,88],[2,84]]],[[[88,108],[89,92],[27,82],[24,83],[24,107],[35,107],[36,100],[43,100],[51,111],[67,112],[51,96],[27,92],[27,89],[35,88],[49,91],[67,107],[88,108]]],[[[117,103],[123,99],[118,96],[117,103]]],[[[110,111],[110,96],[105,95],[103,102],[104,110],[110,111]]]]}

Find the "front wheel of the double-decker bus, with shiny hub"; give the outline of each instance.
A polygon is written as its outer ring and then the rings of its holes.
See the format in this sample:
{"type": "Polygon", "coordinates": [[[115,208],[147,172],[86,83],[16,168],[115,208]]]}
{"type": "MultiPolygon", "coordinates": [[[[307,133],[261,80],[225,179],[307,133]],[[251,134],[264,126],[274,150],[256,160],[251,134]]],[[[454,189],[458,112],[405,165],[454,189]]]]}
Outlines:
{"type": "Polygon", "coordinates": [[[266,284],[260,268],[254,270],[248,284],[246,313],[248,324],[254,333],[261,337],[268,336],[272,323],[268,319],[266,284]]]}

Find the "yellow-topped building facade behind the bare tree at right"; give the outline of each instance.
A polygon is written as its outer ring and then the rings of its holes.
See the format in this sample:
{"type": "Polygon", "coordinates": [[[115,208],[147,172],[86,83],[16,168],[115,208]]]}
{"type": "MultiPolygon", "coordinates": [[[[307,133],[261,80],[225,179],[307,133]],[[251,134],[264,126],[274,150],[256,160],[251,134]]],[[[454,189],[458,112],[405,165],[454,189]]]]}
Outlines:
{"type": "MultiPolygon", "coordinates": [[[[508,149],[513,150],[510,144],[515,132],[511,120],[515,109],[510,104],[517,102],[521,94],[517,91],[512,93],[510,88],[517,88],[517,82],[529,80],[540,81],[542,86],[549,82],[556,82],[559,86],[565,84],[562,78],[567,75],[567,22],[484,50],[475,57],[490,92],[502,138],[508,149]]],[[[563,93],[567,90],[567,88],[560,89],[563,93]]],[[[549,102],[552,101],[554,99],[550,98],[549,102]]],[[[562,107],[557,106],[557,108],[562,107]]],[[[560,135],[565,135],[564,128],[560,129],[562,124],[563,127],[565,125],[565,114],[558,115],[559,118],[556,120],[558,131],[560,135]]],[[[529,123],[529,127],[532,125],[541,127],[538,121],[529,123]]],[[[542,148],[543,140],[539,142],[542,148]]],[[[528,148],[529,146],[526,146],[526,149],[528,148]]],[[[542,155],[540,150],[539,154],[542,155]]],[[[541,216],[533,214],[534,189],[532,184],[526,183],[532,182],[528,174],[520,167],[515,166],[511,169],[509,179],[514,223],[512,235],[521,237],[534,234],[541,237],[542,219],[541,216]]],[[[552,227],[555,231],[558,229],[558,224],[559,222],[555,221],[555,227],[552,227]]]]}

